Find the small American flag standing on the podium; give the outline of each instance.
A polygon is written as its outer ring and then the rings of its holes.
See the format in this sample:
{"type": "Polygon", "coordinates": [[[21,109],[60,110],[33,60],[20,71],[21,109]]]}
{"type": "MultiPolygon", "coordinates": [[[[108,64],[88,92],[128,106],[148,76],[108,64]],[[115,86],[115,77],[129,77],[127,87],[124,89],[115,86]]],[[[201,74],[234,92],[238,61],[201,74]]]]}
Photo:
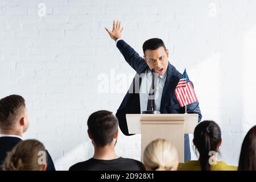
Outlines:
{"type": "Polygon", "coordinates": [[[176,86],[175,95],[177,97],[177,100],[179,101],[180,107],[197,101],[195,91],[193,89],[191,81],[188,78],[186,69],[176,86]]]}

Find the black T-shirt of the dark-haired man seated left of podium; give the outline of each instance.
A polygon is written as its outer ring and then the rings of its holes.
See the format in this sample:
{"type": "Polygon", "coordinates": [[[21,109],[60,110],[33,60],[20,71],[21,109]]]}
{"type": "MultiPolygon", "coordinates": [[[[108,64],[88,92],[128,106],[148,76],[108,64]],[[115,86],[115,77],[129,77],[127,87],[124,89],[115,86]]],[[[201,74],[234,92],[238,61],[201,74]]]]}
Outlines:
{"type": "Polygon", "coordinates": [[[144,165],[138,160],[118,158],[113,160],[89,159],[77,163],[69,171],[144,171],[144,165]]]}

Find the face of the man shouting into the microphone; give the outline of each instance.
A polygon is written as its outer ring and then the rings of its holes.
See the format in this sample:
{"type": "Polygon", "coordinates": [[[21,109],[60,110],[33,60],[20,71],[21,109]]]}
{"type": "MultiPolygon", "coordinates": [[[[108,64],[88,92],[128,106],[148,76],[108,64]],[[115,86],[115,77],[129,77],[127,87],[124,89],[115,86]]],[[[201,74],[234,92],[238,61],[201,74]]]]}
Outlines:
{"type": "Polygon", "coordinates": [[[150,69],[154,68],[159,76],[164,75],[168,67],[168,49],[159,47],[155,50],[147,49],[145,51],[144,60],[150,69]]]}

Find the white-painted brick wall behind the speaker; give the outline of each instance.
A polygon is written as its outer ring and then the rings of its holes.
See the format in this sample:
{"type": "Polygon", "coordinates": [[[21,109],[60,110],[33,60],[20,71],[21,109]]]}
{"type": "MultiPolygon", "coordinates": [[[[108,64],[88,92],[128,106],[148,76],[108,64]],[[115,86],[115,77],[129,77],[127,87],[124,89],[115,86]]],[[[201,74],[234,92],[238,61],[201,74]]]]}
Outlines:
{"type": "MultiPolygon", "coordinates": [[[[203,119],[220,124],[224,160],[238,164],[243,137],[256,123],[255,1],[1,0],[0,5],[0,97],[26,98],[31,126],[24,138],[41,140],[57,169],[93,155],[86,135],[89,114],[115,113],[125,95],[98,93],[98,75],[110,76],[112,69],[115,76],[125,73],[127,90],[134,74],[104,30],[113,19],[122,20],[123,38],[141,55],[144,40],[164,40],[170,62],[180,72],[187,68],[195,84],[203,119]],[[42,2],[46,17],[38,16],[42,2]]],[[[139,160],[140,136],[120,134],[116,149],[139,160]]]]}

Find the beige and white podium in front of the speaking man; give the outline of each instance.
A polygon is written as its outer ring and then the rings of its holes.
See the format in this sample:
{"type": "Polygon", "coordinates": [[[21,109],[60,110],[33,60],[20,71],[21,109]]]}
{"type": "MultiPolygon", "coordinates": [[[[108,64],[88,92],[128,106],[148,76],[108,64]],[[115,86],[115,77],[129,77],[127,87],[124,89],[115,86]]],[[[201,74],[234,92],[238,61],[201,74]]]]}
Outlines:
{"type": "Polygon", "coordinates": [[[155,139],[167,139],[175,145],[179,162],[184,163],[184,134],[192,134],[198,114],[126,114],[129,134],[141,134],[141,156],[155,139]]]}

